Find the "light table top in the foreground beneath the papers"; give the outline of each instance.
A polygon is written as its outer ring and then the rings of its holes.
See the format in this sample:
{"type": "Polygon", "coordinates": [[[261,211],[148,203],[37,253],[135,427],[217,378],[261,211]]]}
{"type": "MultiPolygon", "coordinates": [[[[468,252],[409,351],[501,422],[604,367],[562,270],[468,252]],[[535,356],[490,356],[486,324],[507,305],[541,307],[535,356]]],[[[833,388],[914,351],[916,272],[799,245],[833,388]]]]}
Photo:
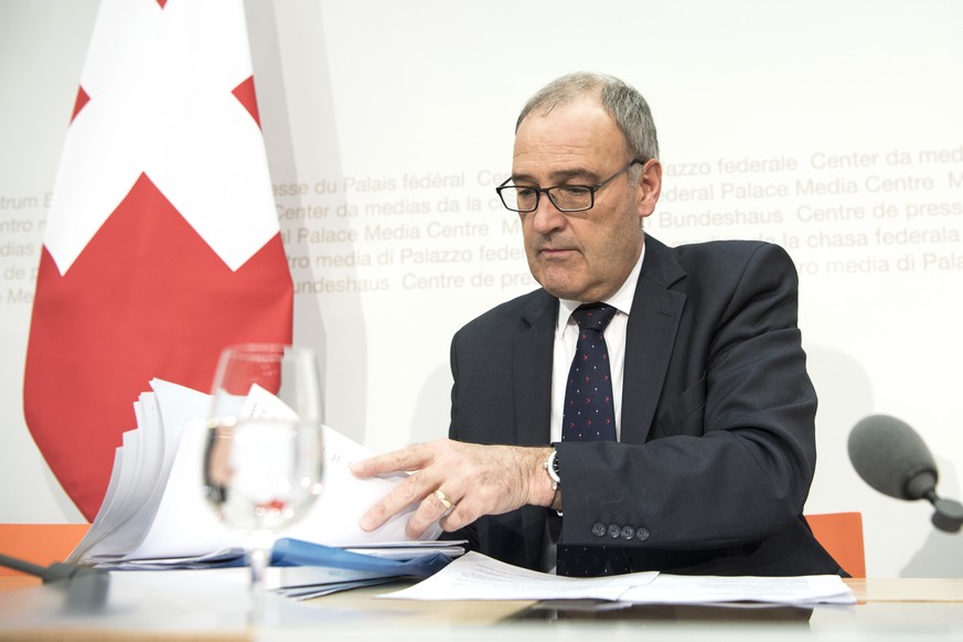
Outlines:
{"type": "MultiPolygon", "coordinates": [[[[244,569],[232,569],[240,570],[244,569]]],[[[632,606],[595,601],[385,600],[405,584],[296,602],[269,596],[247,619],[246,576],[220,571],[111,574],[96,587],[0,577],[0,640],[963,640],[963,579],[850,579],[858,603],[632,606]],[[95,600],[96,601],[96,600],[95,600]],[[79,604],[79,606],[78,606],[79,604]],[[587,630],[590,629],[590,630],[587,630]]]]}

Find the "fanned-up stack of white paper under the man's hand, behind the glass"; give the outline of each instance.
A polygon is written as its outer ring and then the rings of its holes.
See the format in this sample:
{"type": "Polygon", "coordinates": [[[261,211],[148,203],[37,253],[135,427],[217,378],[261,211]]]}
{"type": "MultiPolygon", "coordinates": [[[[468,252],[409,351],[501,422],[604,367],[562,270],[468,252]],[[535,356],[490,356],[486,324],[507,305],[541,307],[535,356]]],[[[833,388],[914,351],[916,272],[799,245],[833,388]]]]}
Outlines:
{"type": "MultiPolygon", "coordinates": [[[[68,561],[97,564],[196,558],[244,545],[244,535],[220,524],[203,497],[203,417],[210,396],[153,379],[135,404],[138,428],[117,449],[107,494],[87,535],[68,561]]],[[[324,490],[310,512],[280,535],[328,546],[405,548],[405,524],[415,506],[378,531],[359,526],[362,514],[402,479],[360,480],[352,461],[370,457],[359,443],[324,427],[324,490]]],[[[422,536],[440,534],[436,525],[422,536]]],[[[456,552],[460,549],[454,549],[456,552]]]]}

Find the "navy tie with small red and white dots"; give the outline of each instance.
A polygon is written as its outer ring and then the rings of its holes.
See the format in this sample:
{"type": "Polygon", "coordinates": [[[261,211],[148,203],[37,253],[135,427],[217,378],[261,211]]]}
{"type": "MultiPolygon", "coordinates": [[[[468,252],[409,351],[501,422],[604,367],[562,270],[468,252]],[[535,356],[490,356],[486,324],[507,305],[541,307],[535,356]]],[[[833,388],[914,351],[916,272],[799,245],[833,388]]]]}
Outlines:
{"type": "MultiPolygon", "coordinates": [[[[616,309],[604,303],[587,303],[571,313],[579,333],[565,388],[565,441],[616,440],[612,375],[603,335],[614,315],[616,309]]],[[[589,577],[630,571],[624,553],[604,546],[559,545],[556,561],[558,575],[589,577]]]]}

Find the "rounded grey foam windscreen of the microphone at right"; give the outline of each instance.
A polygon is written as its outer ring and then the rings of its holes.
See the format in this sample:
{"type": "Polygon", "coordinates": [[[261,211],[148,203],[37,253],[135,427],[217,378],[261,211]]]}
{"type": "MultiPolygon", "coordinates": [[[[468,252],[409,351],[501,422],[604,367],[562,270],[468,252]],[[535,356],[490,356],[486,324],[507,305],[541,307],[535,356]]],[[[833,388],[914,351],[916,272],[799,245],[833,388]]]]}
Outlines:
{"type": "Polygon", "coordinates": [[[870,486],[899,500],[918,500],[908,482],[922,472],[937,479],[937,463],[922,438],[905,421],[870,415],[849,432],[849,461],[870,486]]]}

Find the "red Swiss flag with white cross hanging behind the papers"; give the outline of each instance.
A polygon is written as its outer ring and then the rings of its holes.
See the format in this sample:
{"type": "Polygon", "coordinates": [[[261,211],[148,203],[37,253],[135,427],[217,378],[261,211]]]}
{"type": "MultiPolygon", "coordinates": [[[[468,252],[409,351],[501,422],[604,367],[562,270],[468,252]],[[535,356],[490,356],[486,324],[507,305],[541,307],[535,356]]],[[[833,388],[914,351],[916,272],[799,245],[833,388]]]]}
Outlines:
{"type": "Polygon", "coordinates": [[[148,382],[206,390],[225,345],[290,343],[292,302],[242,0],[104,0],[23,389],[31,434],[88,520],[148,382]]]}

